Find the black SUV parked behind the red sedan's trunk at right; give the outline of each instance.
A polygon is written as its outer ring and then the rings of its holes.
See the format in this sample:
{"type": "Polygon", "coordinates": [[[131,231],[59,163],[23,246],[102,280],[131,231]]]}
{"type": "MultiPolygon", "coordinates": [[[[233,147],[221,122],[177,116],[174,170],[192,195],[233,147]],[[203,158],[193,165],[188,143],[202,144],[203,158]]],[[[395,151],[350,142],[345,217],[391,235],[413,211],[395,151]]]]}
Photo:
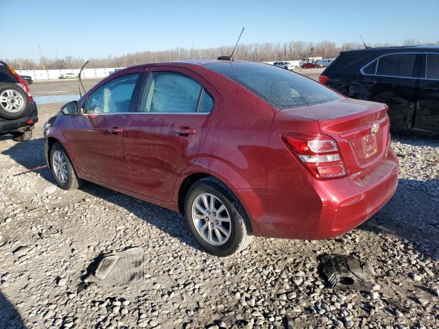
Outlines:
{"type": "Polygon", "coordinates": [[[319,80],[348,97],[386,103],[393,132],[439,132],[439,47],[344,51],[319,80]]]}

